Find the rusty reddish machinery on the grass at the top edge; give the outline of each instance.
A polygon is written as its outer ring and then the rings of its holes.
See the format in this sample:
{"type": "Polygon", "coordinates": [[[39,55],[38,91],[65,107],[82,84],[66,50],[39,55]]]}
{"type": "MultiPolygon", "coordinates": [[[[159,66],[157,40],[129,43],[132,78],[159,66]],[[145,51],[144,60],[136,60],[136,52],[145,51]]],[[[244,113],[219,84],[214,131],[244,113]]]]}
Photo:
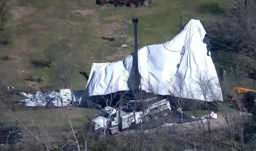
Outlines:
{"type": "MultiPolygon", "coordinates": [[[[126,5],[129,7],[140,7],[148,2],[151,4],[152,0],[96,0],[96,4],[105,5],[106,3],[114,4],[115,7],[126,5]]],[[[146,6],[146,5],[145,5],[146,6]]]]}

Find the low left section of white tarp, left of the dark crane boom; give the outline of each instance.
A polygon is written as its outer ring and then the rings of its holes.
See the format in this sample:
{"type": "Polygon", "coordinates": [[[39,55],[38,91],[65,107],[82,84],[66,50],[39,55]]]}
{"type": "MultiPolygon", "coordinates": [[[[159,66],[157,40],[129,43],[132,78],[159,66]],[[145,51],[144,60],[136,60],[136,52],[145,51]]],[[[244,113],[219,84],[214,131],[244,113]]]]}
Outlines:
{"type": "Polygon", "coordinates": [[[85,93],[89,96],[109,94],[127,90],[129,73],[123,66],[123,61],[114,63],[92,64],[85,93]]]}

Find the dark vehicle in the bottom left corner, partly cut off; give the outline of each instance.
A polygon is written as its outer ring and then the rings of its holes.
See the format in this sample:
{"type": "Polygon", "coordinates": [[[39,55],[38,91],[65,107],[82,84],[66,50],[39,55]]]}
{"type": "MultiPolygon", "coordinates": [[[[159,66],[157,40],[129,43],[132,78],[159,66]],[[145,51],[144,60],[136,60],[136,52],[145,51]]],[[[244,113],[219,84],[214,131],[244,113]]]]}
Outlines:
{"type": "Polygon", "coordinates": [[[21,129],[18,126],[0,128],[0,144],[15,145],[21,138],[21,129]]]}

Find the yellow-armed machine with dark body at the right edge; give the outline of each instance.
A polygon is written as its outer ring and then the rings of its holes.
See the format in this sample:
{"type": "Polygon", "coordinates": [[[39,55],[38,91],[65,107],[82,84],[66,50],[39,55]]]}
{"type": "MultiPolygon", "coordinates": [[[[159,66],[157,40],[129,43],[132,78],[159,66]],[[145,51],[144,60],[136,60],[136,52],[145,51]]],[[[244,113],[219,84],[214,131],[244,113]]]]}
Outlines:
{"type": "Polygon", "coordinates": [[[241,103],[245,107],[245,109],[252,113],[256,114],[256,90],[243,88],[243,87],[235,87],[233,90],[231,102],[234,102],[236,99],[240,99],[241,103]],[[238,97],[239,94],[244,94],[243,97],[238,97]]]}

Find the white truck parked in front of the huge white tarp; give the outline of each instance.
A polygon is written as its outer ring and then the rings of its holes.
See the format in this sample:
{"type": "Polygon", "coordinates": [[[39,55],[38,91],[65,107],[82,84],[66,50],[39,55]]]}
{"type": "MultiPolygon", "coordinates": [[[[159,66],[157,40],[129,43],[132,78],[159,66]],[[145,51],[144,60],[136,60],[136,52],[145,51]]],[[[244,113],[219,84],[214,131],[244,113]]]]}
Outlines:
{"type": "Polygon", "coordinates": [[[106,135],[114,135],[139,124],[142,124],[143,128],[157,127],[164,123],[170,113],[171,106],[167,99],[159,100],[153,97],[123,102],[117,108],[106,106],[92,122],[97,137],[102,139],[106,135]],[[153,122],[156,120],[158,122],[153,122]]]}

